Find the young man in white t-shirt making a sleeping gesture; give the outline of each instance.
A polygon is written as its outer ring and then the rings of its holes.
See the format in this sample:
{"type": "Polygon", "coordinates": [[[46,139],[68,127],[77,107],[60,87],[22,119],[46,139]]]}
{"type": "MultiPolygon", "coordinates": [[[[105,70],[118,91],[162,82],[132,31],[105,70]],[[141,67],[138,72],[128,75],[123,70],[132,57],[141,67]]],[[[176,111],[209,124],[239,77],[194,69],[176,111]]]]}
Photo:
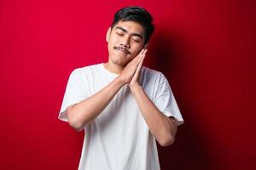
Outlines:
{"type": "Polygon", "coordinates": [[[143,66],[154,31],[144,8],[121,8],[108,28],[108,63],[75,69],[59,119],[84,129],[79,170],[157,170],[183,117],[166,77],[143,66]]]}

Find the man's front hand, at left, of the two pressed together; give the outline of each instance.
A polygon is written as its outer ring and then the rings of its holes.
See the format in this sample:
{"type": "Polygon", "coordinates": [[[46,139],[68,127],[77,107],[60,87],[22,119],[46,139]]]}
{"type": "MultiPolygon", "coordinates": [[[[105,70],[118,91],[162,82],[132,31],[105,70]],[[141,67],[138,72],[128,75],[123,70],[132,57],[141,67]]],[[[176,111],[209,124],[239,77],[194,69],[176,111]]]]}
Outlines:
{"type": "MultiPolygon", "coordinates": [[[[124,70],[120,73],[119,77],[125,84],[130,83],[131,79],[137,74],[137,67],[140,65],[142,67],[141,61],[145,56],[145,52],[147,52],[147,49],[142,49],[137,56],[128,63],[128,65],[125,66],[124,70]]],[[[140,71],[140,69],[139,69],[140,71]]],[[[134,82],[134,81],[133,81],[134,82]]]]}

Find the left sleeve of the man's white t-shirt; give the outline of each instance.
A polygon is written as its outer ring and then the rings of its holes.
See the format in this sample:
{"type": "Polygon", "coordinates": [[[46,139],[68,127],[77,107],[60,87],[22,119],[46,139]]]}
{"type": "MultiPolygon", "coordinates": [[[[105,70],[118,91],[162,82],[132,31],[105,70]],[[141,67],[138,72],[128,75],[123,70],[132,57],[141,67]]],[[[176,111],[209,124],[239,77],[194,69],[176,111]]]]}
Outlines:
{"type": "Polygon", "coordinates": [[[82,72],[79,69],[75,69],[69,76],[67,82],[67,88],[64,94],[64,98],[61,105],[61,111],[58,118],[61,121],[68,122],[67,119],[67,107],[69,105],[77,104],[83,99],[87,98],[86,94],[86,84],[84,83],[84,78],[82,72]]]}

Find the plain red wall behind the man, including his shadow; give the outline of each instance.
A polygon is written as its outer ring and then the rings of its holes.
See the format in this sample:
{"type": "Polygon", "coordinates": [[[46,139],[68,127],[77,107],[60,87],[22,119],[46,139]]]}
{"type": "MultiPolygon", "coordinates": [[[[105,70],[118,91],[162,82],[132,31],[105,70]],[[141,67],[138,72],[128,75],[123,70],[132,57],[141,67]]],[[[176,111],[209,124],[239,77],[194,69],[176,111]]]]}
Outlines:
{"type": "Polygon", "coordinates": [[[255,1],[0,1],[0,169],[76,169],[84,133],[57,119],[74,68],[108,59],[114,12],[141,5],[156,30],[145,65],[183,113],[162,169],[255,167],[255,1]]]}

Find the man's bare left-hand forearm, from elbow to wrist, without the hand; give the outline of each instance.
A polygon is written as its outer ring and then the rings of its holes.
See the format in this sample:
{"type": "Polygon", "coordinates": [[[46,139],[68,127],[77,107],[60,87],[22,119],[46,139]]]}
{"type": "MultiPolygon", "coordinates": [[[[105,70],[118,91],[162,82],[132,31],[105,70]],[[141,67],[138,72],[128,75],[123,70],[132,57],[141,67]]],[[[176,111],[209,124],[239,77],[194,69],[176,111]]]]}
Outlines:
{"type": "Polygon", "coordinates": [[[117,77],[96,94],[82,100],[76,105],[67,107],[69,124],[77,130],[82,129],[85,124],[89,124],[96,116],[101,114],[124,84],[125,83],[120,81],[120,78],[117,77]]]}

